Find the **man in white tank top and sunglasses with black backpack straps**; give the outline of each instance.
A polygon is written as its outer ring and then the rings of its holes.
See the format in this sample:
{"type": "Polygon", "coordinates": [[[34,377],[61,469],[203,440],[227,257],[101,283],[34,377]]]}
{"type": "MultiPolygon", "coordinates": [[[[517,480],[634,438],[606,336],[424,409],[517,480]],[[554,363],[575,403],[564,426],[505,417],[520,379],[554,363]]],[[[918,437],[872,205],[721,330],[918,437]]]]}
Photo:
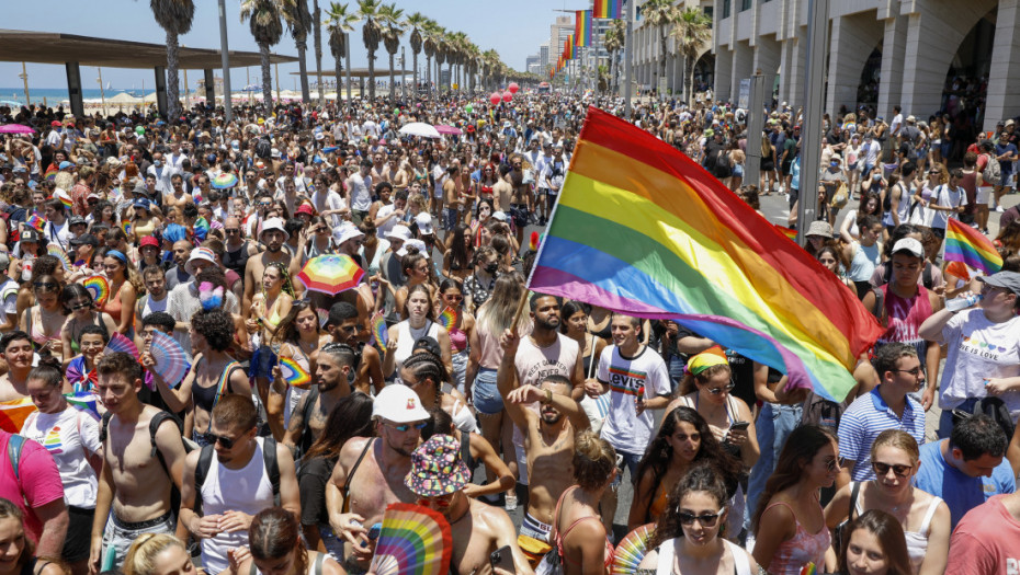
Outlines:
{"type": "Polygon", "coordinates": [[[258,418],[250,398],[224,395],[213,407],[205,434],[209,444],[184,458],[179,519],[202,544],[209,573],[226,570],[227,553],[248,544],[252,516],[272,507],[274,496],[284,509],[301,513],[291,452],[272,438],[257,437],[258,418]],[[196,499],[201,513],[193,510],[196,499]]]}

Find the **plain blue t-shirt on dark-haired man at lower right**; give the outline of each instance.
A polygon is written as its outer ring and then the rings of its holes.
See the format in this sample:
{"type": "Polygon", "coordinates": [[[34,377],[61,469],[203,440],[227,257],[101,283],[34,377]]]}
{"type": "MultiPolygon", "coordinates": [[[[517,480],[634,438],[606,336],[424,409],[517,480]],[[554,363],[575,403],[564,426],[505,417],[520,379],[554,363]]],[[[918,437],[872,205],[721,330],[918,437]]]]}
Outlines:
{"type": "Polygon", "coordinates": [[[942,457],[942,441],[921,447],[921,469],[914,481],[918,488],[942,497],[945,505],[949,505],[953,529],[967,511],[993,495],[1017,491],[1013,470],[1006,458],[991,471],[990,478],[972,478],[945,461],[942,457]]]}

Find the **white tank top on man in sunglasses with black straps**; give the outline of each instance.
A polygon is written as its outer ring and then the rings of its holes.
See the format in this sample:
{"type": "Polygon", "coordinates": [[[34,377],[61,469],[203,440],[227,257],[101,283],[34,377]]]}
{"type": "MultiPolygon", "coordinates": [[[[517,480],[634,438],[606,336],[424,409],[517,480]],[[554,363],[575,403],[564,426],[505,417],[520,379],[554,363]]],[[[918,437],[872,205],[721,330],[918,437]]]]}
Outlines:
{"type": "MultiPolygon", "coordinates": [[[[202,484],[203,515],[218,515],[235,510],[254,514],[273,506],[273,484],[265,471],[262,457],[264,447],[261,437],[256,438],[256,449],[251,459],[241,469],[227,469],[219,464],[219,457],[213,452],[205,483],[202,484]],[[226,488],[225,488],[226,487],[226,488]]],[[[227,550],[248,544],[246,529],[202,540],[202,560],[211,571],[227,568],[227,550]]]]}

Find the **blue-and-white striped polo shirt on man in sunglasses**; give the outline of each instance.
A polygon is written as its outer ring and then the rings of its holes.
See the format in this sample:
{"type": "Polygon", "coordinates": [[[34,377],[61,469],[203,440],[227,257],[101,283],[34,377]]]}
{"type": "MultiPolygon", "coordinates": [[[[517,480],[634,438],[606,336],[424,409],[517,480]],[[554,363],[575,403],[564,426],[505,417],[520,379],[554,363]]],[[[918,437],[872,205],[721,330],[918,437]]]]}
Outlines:
{"type": "Polygon", "coordinates": [[[839,457],[855,461],[850,478],[853,481],[875,479],[871,468],[871,445],[886,429],[900,429],[910,434],[918,445],[925,442],[925,410],[909,395],[903,417],[885,403],[879,393],[881,386],[858,398],[839,419],[839,457]]]}

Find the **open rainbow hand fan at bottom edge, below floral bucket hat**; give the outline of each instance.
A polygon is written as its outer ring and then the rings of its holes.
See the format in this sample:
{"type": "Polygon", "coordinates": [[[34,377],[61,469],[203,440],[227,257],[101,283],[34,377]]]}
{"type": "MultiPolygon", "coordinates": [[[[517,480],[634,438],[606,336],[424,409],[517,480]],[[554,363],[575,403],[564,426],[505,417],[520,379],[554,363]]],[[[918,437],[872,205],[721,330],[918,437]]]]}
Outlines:
{"type": "Polygon", "coordinates": [[[450,524],[437,511],[395,503],[386,507],[370,572],[376,575],[445,575],[453,555],[450,524]]]}

